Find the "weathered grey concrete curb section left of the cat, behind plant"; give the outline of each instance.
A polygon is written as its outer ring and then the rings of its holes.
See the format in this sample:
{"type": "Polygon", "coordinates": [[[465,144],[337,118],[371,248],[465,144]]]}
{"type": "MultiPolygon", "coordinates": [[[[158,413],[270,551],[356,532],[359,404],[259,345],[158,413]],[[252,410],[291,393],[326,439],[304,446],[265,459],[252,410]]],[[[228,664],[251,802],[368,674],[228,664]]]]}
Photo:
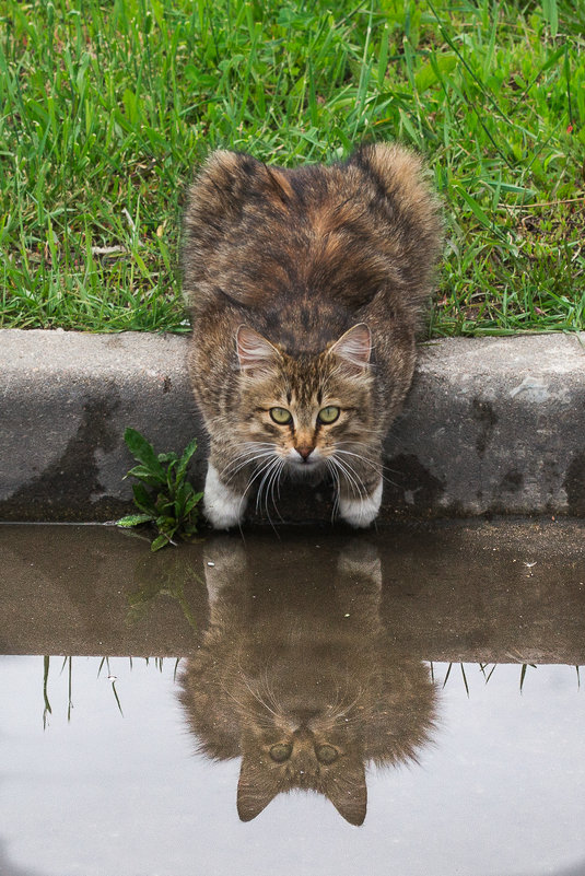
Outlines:
{"type": "Polygon", "coordinates": [[[157,451],[183,449],[201,431],[185,349],[173,335],[0,331],[0,518],[126,511],[126,427],[157,451]]]}

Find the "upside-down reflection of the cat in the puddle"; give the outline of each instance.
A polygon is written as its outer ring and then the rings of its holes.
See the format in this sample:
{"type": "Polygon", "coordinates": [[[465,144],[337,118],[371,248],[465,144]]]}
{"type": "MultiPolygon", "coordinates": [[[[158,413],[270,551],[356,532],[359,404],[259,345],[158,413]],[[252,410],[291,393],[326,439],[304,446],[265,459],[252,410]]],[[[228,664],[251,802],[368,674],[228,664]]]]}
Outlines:
{"type": "MultiPolygon", "coordinates": [[[[361,825],[365,764],[416,759],[435,711],[426,666],[397,655],[381,623],[375,551],[350,545],[325,581],[286,588],[256,558],[247,571],[238,542],[215,540],[209,551],[210,626],[180,694],[199,750],[242,757],[243,821],[277,794],[306,789],[361,825]]],[[[309,581],[317,559],[304,558],[309,581]]]]}

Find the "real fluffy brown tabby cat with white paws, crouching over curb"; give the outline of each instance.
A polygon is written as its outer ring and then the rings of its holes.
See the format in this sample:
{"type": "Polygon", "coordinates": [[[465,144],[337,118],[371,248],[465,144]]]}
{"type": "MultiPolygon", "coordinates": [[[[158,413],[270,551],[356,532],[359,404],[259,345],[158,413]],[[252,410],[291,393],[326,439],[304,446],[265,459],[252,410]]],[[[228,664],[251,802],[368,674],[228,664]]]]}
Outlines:
{"type": "Polygon", "coordinates": [[[294,170],[210,155],[187,197],[183,285],[212,526],[239,524],[253,490],[268,506],[282,475],[328,475],[352,526],[377,516],[440,248],[421,160],[396,144],[294,170]]]}

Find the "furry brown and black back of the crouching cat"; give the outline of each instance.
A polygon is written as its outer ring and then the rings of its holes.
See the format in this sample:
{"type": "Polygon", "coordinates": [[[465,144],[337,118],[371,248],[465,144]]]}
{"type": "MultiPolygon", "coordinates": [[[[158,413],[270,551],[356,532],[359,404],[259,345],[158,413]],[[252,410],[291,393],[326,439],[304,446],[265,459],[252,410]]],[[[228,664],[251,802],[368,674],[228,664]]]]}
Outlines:
{"type": "Polygon", "coordinates": [[[196,319],[258,311],[282,324],[320,303],[337,330],[381,294],[419,308],[438,246],[421,162],[397,145],[294,170],[219,151],[188,194],[184,293],[196,319]]]}

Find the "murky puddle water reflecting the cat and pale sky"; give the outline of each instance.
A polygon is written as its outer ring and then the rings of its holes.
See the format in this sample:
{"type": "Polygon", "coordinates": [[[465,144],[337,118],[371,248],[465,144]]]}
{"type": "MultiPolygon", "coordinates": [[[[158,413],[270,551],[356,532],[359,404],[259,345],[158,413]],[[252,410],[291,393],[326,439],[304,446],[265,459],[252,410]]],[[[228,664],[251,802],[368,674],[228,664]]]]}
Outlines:
{"type": "Polygon", "coordinates": [[[0,874],[585,876],[583,534],[0,527],[0,874]]]}

